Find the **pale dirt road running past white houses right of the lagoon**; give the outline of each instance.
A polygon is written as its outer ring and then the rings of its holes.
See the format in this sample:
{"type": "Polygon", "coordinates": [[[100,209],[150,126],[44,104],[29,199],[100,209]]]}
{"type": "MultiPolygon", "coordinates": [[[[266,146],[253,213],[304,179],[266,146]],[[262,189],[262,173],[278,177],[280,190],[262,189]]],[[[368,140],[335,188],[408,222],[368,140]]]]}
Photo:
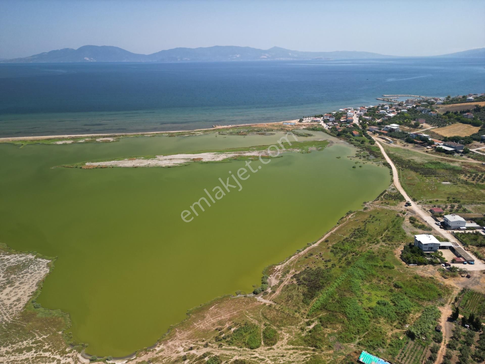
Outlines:
{"type": "MultiPolygon", "coordinates": [[[[382,145],[379,142],[379,140],[376,137],[374,137],[374,135],[372,135],[372,133],[369,133],[369,135],[372,136],[372,138],[375,141],[375,144],[377,144],[377,146],[379,147],[379,149],[381,149],[381,152],[384,155],[384,158],[386,159],[386,162],[388,162],[388,164],[391,166],[391,169],[392,169],[392,179],[393,179],[393,182],[394,182],[394,186],[397,188],[397,190],[399,192],[401,192],[401,195],[403,195],[404,199],[406,201],[409,201],[411,203],[411,207],[416,212],[416,214],[420,215],[420,217],[424,221],[426,221],[428,223],[428,225],[430,225],[431,228],[435,230],[435,232],[437,232],[438,234],[440,234],[441,236],[443,236],[449,242],[457,243],[460,247],[462,247],[461,244],[460,244],[460,242],[453,236],[453,234],[451,234],[450,232],[447,232],[446,230],[443,230],[440,227],[438,227],[436,225],[435,219],[433,217],[431,217],[431,215],[429,215],[425,210],[423,210],[416,202],[414,202],[409,197],[409,195],[406,193],[406,191],[404,191],[404,188],[401,186],[401,183],[399,182],[399,172],[398,172],[396,166],[394,165],[394,163],[392,162],[392,160],[387,155],[386,150],[384,150],[384,148],[382,147],[382,145]]],[[[484,270],[485,269],[485,263],[482,263],[481,260],[479,260],[475,256],[473,256],[473,254],[471,254],[470,251],[468,251],[468,253],[475,259],[475,264],[474,265],[466,265],[466,268],[468,270],[484,270]]]]}

